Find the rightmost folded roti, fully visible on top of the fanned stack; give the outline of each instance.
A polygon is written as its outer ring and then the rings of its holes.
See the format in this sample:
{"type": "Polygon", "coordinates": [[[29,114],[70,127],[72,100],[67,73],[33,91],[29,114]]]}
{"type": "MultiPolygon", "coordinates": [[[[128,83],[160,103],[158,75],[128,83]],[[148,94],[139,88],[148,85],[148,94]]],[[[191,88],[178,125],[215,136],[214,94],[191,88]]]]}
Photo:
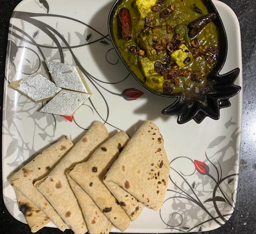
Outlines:
{"type": "MultiPolygon", "coordinates": [[[[145,121],[131,137],[104,177],[106,185],[120,186],[155,211],[162,207],[169,162],[158,127],[145,121]]],[[[110,192],[114,192],[111,191],[110,192]]]]}

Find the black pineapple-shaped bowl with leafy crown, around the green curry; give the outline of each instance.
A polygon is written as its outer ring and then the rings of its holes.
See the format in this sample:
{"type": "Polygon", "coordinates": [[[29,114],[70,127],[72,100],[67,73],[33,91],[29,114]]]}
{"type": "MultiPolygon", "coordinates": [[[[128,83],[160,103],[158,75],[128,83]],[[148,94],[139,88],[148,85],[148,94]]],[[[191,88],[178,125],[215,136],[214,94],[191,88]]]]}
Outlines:
{"type": "Polygon", "coordinates": [[[208,12],[214,12],[216,14],[216,19],[213,20],[214,24],[218,29],[219,35],[219,54],[218,60],[215,64],[213,70],[207,75],[208,82],[211,83],[211,91],[206,93],[203,97],[204,102],[201,100],[192,99],[187,97],[182,93],[175,94],[165,94],[152,91],[147,86],[144,85],[132,72],[129,66],[124,61],[116,42],[114,40],[114,30],[113,30],[113,17],[115,15],[118,5],[123,0],[116,0],[110,9],[108,15],[108,32],[113,46],[119,55],[120,59],[132,74],[132,76],[149,92],[162,96],[162,97],[175,97],[176,100],[162,110],[163,115],[177,115],[177,123],[183,124],[191,119],[196,123],[201,123],[201,121],[206,117],[217,120],[220,117],[220,109],[229,107],[231,104],[229,98],[236,95],[241,87],[234,84],[240,70],[239,68],[234,68],[233,70],[220,75],[219,72],[222,69],[227,55],[227,36],[224,29],[223,22],[211,0],[202,0],[203,4],[206,6],[208,12]]]}

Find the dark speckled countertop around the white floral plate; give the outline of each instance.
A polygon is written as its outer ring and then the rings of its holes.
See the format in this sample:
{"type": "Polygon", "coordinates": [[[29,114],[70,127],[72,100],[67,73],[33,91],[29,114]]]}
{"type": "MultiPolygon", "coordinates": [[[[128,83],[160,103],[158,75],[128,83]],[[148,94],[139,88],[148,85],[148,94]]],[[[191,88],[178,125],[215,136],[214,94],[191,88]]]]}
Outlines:
{"type": "MultiPolygon", "coordinates": [[[[0,105],[4,80],[8,23],[12,10],[20,0],[0,0],[0,105]]],[[[234,213],[221,228],[210,234],[254,234],[256,230],[256,0],[222,0],[238,17],[242,43],[243,110],[239,183],[234,213]]],[[[1,111],[1,108],[0,108],[1,111]]],[[[1,122],[1,113],[0,113],[1,122]]],[[[1,135],[1,134],[0,134],[1,135]]],[[[1,166],[0,166],[1,174],[1,166]]],[[[0,186],[2,190],[2,186],[0,186]]],[[[2,234],[30,234],[27,225],[16,221],[7,212],[0,198],[0,230],[2,234]]],[[[60,234],[57,229],[44,228],[38,234],[60,234]]],[[[72,231],[66,230],[65,234],[72,231]]]]}

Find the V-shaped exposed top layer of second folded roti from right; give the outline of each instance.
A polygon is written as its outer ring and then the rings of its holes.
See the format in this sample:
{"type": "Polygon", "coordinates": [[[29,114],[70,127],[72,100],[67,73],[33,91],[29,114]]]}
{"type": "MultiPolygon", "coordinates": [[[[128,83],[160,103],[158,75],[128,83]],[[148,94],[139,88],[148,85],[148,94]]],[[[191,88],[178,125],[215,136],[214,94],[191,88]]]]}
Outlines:
{"type": "Polygon", "coordinates": [[[102,178],[128,140],[124,131],[116,133],[100,145],[87,162],[77,164],[68,174],[120,231],[128,227],[130,219],[103,184],[102,178]]]}

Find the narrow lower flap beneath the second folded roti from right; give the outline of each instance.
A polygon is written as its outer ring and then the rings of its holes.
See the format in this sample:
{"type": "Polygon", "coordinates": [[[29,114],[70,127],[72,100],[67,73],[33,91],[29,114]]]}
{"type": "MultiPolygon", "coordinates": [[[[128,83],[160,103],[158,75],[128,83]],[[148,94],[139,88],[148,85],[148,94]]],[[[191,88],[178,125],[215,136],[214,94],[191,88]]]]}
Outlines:
{"type": "Polygon", "coordinates": [[[88,232],[90,234],[108,234],[112,229],[111,222],[98,209],[85,191],[67,175],[69,185],[80,205],[88,232]]]}

